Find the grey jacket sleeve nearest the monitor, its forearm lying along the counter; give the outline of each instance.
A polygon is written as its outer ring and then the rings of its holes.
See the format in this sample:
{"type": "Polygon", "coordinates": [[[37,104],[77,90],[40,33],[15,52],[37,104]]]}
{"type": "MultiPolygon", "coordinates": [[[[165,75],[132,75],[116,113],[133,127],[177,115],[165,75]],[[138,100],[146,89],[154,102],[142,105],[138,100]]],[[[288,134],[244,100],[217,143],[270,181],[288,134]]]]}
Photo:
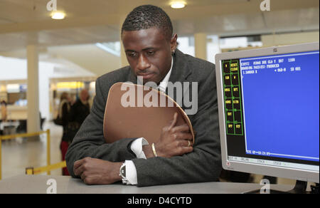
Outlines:
{"type": "Polygon", "coordinates": [[[197,132],[193,152],[171,158],[134,159],[138,187],[217,181],[221,171],[218,102],[215,71],[198,83],[198,112],[193,118],[197,132]]]}

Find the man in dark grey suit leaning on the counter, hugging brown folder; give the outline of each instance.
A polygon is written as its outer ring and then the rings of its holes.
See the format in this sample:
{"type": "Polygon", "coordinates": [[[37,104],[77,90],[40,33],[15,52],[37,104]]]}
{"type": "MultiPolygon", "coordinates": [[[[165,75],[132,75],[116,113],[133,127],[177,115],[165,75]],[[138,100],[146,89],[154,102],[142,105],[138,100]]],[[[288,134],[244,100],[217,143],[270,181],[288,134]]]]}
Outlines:
{"type": "Polygon", "coordinates": [[[66,156],[73,177],[81,177],[86,184],[122,180],[138,187],[218,180],[221,162],[215,66],[178,51],[176,39],[169,16],[156,6],[139,6],[127,16],[122,43],[130,66],[97,79],[91,113],[66,156]],[[176,115],[168,126],[159,127],[162,134],[154,145],[144,138],[105,143],[102,128],[110,87],[118,82],[138,83],[137,76],[142,76],[143,83],[159,84],[159,90],[168,90],[168,82],[198,83],[198,110],[188,115],[196,131],[194,144],[188,126],[176,125],[176,115]],[[125,176],[119,175],[120,167],[126,170],[125,176]]]}

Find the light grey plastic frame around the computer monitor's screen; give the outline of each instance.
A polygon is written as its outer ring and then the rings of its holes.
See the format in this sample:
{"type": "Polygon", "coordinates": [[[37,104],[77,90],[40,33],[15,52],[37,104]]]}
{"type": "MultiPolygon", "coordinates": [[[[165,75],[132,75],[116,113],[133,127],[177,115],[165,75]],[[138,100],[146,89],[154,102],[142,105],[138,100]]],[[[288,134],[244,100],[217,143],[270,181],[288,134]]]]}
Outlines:
{"type": "MultiPolygon", "coordinates": [[[[216,81],[217,81],[221,160],[222,160],[223,169],[319,183],[319,172],[228,160],[228,152],[227,152],[228,149],[227,149],[227,137],[226,137],[226,130],[225,130],[226,129],[225,110],[223,109],[224,108],[223,107],[224,106],[223,104],[223,73],[221,70],[221,61],[228,60],[228,59],[250,58],[250,57],[257,57],[257,56],[274,56],[274,55],[279,55],[284,53],[299,53],[299,52],[306,52],[306,51],[319,51],[319,42],[303,43],[303,44],[290,45],[290,46],[274,46],[269,48],[258,48],[258,49],[247,50],[247,51],[218,53],[215,55],[215,66],[216,66],[215,75],[216,75],[216,81]]],[[[233,155],[233,156],[236,156],[236,155],[233,155]]]]}

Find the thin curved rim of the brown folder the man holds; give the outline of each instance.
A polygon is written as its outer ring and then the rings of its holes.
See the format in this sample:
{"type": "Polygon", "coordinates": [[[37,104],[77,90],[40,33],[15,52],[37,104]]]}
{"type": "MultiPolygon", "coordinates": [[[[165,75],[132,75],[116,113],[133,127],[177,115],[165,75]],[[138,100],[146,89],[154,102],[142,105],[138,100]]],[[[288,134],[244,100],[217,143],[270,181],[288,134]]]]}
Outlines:
{"type": "MultiPolygon", "coordinates": [[[[122,84],[124,84],[124,83],[122,83],[122,82],[114,83],[114,84],[111,86],[111,88],[110,88],[110,90],[109,90],[109,92],[108,92],[107,103],[105,104],[105,114],[104,114],[104,116],[103,116],[103,137],[104,137],[105,139],[106,139],[105,123],[106,123],[107,105],[108,105],[108,102],[109,102],[109,100],[110,100],[110,99],[109,99],[109,98],[110,98],[109,95],[110,95],[110,93],[112,92],[112,90],[113,90],[113,88],[114,88],[115,86],[117,86],[117,85],[122,85],[122,84]]],[[[134,84],[134,83],[125,83],[125,84],[134,85],[134,86],[136,85],[136,84],[134,84]]],[[[149,88],[151,88],[151,87],[149,87],[149,88]]],[[[190,128],[190,132],[191,132],[192,140],[193,140],[192,143],[194,144],[194,141],[195,141],[195,131],[193,130],[193,126],[192,126],[191,120],[188,118],[188,115],[186,114],[186,112],[184,112],[184,110],[181,108],[181,106],[178,105],[178,103],[176,103],[176,101],[175,101],[174,99],[172,99],[169,95],[166,95],[166,93],[163,93],[163,92],[161,92],[161,91],[159,91],[159,90],[155,90],[154,88],[151,88],[151,90],[154,90],[154,91],[156,91],[156,92],[158,92],[158,93],[162,93],[163,95],[166,96],[166,98],[170,99],[170,100],[176,105],[176,107],[178,107],[178,109],[180,110],[180,112],[183,114],[183,120],[186,121],[187,125],[188,125],[189,128],[190,128]]]]}

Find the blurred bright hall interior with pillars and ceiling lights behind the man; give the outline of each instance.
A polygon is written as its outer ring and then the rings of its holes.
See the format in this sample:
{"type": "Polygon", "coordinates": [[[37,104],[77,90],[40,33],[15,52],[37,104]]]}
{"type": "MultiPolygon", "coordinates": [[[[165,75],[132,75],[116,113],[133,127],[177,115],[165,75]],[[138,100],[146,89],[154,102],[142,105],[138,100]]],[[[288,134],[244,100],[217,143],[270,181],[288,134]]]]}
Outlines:
{"type": "MultiPolygon", "coordinates": [[[[46,167],[48,156],[51,165],[63,162],[63,128],[54,122],[61,98],[67,94],[75,103],[85,90],[92,106],[95,80],[128,65],[120,31],[136,6],[164,9],[178,34],[178,49],[211,63],[217,53],[319,42],[319,0],[270,0],[262,6],[262,0],[177,2],[0,0],[0,136],[17,135],[0,141],[0,179],[46,167]],[[177,2],[182,6],[174,6],[177,2]]],[[[235,182],[259,183],[262,177],[239,173],[235,182]]],[[[220,180],[233,181],[230,173],[220,180]]]]}

